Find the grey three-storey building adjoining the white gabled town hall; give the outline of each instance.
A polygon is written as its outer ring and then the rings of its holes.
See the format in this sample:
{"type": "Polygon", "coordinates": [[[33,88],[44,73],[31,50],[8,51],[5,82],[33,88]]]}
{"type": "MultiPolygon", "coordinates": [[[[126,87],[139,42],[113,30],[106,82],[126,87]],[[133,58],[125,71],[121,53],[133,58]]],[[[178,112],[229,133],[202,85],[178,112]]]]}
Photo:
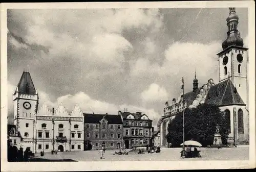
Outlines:
{"type": "Polygon", "coordinates": [[[84,113],[84,150],[121,149],[122,146],[120,115],[84,113]]]}

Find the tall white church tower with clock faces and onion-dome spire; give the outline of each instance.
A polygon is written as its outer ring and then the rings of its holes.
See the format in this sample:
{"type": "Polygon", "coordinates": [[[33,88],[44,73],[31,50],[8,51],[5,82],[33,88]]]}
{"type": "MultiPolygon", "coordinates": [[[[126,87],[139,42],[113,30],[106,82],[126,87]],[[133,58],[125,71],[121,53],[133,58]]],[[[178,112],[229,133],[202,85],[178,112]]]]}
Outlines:
{"type": "Polygon", "coordinates": [[[230,79],[237,88],[242,100],[248,105],[247,65],[248,48],[243,47],[244,42],[238,31],[239,17],[236,8],[229,8],[227,17],[227,38],[222,43],[223,51],[219,56],[219,80],[230,79]]]}

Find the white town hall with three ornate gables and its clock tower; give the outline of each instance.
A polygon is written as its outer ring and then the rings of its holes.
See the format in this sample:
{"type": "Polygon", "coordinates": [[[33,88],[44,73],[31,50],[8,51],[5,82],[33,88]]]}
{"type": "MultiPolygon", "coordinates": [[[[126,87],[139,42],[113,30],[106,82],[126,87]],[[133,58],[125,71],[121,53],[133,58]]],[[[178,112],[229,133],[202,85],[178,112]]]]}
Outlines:
{"type": "Polygon", "coordinates": [[[14,125],[23,140],[19,147],[32,152],[83,150],[83,114],[76,105],[68,113],[63,105],[57,110],[43,105],[29,72],[24,71],[13,94],[14,125]]]}

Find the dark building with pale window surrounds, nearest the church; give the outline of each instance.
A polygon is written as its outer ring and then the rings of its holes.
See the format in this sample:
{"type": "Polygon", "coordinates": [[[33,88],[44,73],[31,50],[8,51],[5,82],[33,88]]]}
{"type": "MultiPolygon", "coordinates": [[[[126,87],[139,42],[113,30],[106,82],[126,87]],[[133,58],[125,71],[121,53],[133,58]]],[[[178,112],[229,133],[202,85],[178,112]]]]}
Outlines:
{"type": "Polygon", "coordinates": [[[152,120],[141,112],[121,112],[123,119],[124,148],[132,149],[138,146],[152,145],[154,128],[152,120]]]}

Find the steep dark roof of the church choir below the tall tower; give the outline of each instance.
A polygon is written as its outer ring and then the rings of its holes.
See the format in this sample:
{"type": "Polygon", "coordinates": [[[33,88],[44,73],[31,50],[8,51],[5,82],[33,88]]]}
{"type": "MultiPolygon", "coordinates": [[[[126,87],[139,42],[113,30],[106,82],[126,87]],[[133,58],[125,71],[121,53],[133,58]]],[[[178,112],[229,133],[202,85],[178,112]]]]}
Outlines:
{"type": "Polygon", "coordinates": [[[234,87],[230,79],[224,80],[212,87],[210,87],[205,99],[205,103],[225,106],[225,105],[243,105],[241,96],[237,89],[234,87]]]}

